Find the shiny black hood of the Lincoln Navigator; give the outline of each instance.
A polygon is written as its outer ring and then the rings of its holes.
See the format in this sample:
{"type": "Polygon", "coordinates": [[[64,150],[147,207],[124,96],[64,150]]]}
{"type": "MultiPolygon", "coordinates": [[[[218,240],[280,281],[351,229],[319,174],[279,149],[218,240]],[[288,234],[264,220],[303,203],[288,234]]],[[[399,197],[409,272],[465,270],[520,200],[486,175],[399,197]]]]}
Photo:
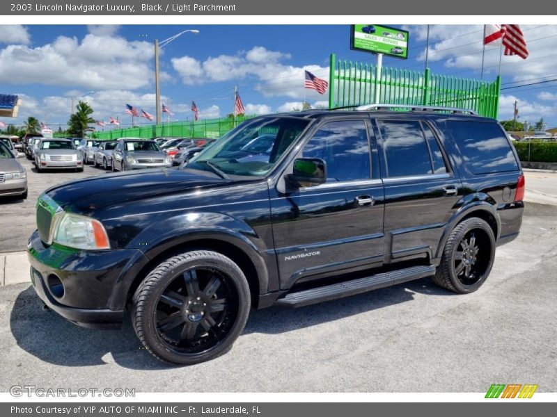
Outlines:
{"type": "Polygon", "coordinates": [[[46,193],[62,208],[74,213],[92,215],[116,204],[141,201],[183,193],[199,187],[228,183],[210,172],[157,168],[139,172],[122,172],[71,181],[49,188],[46,193]]]}

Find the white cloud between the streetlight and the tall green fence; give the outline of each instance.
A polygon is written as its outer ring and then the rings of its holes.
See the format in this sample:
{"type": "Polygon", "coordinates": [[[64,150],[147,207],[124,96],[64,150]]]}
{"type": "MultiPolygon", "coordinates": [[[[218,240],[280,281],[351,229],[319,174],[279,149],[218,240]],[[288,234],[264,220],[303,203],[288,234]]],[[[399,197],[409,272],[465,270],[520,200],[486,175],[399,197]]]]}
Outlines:
{"type": "MultiPolygon", "coordinates": [[[[190,56],[173,58],[174,70],[187,85],[219,81],[254,78],[256,90],[266,97],[286,96],[292,99],[304,97],[304,70],[328,79],[329,68],[320,65],[295,67],[280,61],[290,58],[290,54],[269,51],[264,47],[253,47],[236,55],[219,55],[201,62],[190,56]]],[[[307,99],[320,96],[315,90],[305,90],[307,99]]]]}

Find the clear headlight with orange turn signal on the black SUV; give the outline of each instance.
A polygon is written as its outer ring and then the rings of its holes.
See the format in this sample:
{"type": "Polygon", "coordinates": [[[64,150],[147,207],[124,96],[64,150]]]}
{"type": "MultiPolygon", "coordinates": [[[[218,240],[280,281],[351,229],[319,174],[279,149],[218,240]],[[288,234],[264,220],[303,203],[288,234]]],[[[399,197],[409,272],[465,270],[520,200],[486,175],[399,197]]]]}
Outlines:
{"type": "Polygon", "coordinates": [[[63,213],[54,232],[54,242],[77,249],[110,249],[107,231],[98,220],[63,213]]]}

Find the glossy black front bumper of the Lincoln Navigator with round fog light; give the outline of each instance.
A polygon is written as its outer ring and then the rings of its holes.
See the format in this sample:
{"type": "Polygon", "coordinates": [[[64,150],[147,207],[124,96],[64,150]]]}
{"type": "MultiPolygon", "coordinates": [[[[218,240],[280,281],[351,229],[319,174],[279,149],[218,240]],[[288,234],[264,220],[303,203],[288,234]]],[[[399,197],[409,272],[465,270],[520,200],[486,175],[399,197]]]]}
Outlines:
{"type": "Polygon", "coordinates": [[[35,231],[27,244],[31,282],[52,311],[88,328],[116,328],[123,321],[130,279],[145,255],[139,250],[85,251],[45,246],[35,231]],[[49,283],[50,281],[50,283],[49,283]],[[54,290],[61,283],[63,291],[54,290]],[[128,285],[123,285],[123,283],[128,285]]]}

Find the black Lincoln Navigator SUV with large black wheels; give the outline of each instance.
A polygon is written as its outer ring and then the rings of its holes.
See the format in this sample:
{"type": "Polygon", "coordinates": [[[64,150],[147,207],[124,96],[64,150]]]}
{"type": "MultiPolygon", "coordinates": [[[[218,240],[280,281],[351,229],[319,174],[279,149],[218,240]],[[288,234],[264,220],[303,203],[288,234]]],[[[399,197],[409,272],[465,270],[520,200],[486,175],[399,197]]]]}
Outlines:
{"type": "Polygon", "coordinates": [[[517,237],[517,154],[496,120],[363,106],[248,120],[178,170],[54,186],[37,203],[31,280],[84,327],[125,311],[159,359],[226,352],[251,308],[306,306],[432,276],[487,279],[517,237]]]}

